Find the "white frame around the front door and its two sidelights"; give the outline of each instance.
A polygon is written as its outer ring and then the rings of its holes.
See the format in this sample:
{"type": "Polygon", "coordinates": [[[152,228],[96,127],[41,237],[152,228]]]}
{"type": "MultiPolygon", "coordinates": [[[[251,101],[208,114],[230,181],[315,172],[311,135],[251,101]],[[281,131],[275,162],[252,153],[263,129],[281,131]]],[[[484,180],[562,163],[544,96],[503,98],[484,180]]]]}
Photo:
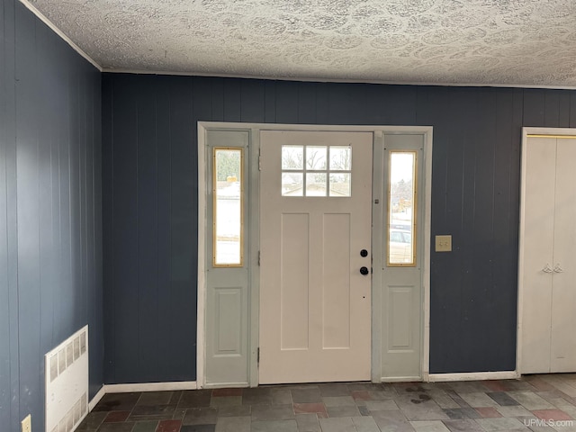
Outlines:
{"type": "MultiPolygon", "coordinates": [[[[319,131],[352,131],[352,132],[374,132],[374,139],[382,137],[383,133],[411,133],[422,134],[424,137],[424,152],[423,152],[423,172],[424,172],[424,200],[420,205],[424,205],[424,220],[423,220],[423,247],[424,254],[422,265],[422,358],[421,358],[421,371],[422,381],[429,380],[429,340],[430,340],[430,253],[431,253],[431,212],[430,203],[432,197],[432,127],[431,126],[356,126],[356,125],[304,125],[304,124],[272,124],[272,123],[242,123],[242,122],[222,122],[222,121],[199,121],[198,122],[198,309],[197,309],[197,335],[196,335],[196,383],[198,388],[202,388],[206,384],[205,380],[205,354],[206,354],[206,223],[207,220],[207,205],[206,201],[206,130],[250,130],[251,143],[249,146],[250,164],[258,163],[258,150],[259,143],[259,130],[319,130],[319,131]]],[[[374,159],[375,160],[375,159],[374,159]]],[[[374,164],[374,171],[382,170],[383,166],[374,164]]],[[[247,221],[250,233],[247,236],[247,241],[251,242],[250,257],[257,256],[259,249],[259,240],[257,229],[257,209],[258,203],[258,182],[255,178],[248,178],[248,187],[251,188],[250,192],[250,220],[247,221]]],[[[373,188],[373,193],[377,192],[377,188],[373,188]]],[[[373,244],[375,241],[373,230],[373,244]]],[[[259,316],[258,316],[258,289],[259,281],[257,278],[258,267],[257,259],[252,259],[251,269],[251,287],[250,287],[250,301],[249,301],[249,330],[248,330],[248,351],[250,353],[249,361],[249,384],[250,386],[258,385],[257,374],[257,347],[258,347],[258,329],[259,329],[259,316]]],[[[372,281],[372,289],[374,293],[374,278],[372,281]]],[[[373,297],[374,298],[374,297],[373,297]]],[[[374,304],[375,308],[380,307],[374,304]]],[[[373,326],[373,365],[372,376],[373,381],[377,381],[382,376],[380,372],[381,365],[374,365],[374,353],[380,352],[380,338],[382,329],[374,329],[373,326]]],[[[379,355],[378,355],[379,357],[379,355]]]]}

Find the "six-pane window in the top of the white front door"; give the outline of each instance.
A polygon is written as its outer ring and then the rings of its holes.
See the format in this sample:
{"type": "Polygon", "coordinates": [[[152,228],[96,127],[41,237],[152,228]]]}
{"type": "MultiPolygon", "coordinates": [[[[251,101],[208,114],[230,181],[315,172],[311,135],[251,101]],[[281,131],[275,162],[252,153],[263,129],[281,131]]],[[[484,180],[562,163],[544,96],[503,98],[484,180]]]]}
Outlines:
{"type": "Polygon", "coordinates": [[[352,148],[282,146],[282,196],[352,195],[352,148]]]}

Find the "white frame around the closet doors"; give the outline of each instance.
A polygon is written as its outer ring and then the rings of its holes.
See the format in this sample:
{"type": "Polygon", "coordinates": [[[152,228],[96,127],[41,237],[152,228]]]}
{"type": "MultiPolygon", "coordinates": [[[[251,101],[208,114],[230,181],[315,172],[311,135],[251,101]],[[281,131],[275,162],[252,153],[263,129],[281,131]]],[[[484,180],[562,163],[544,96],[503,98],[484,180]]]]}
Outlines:
{"type": "Polygon", "coordinates": [[[522,365],[522,337],[523,337],[523,321],[524,321],[524,224],[525,224],[525,197],[526,197],[526,157],[527,157],[527,142],[531,136],[541,136],[543,138],[566,137],[576,136],[576,129],[574,128],[522,128],[522,162],[520,166],[520,225],[518,236],[518,328],[517,328],[517,349],[516,349],[516,374],[522,374],[520,366],[522,365]]]}

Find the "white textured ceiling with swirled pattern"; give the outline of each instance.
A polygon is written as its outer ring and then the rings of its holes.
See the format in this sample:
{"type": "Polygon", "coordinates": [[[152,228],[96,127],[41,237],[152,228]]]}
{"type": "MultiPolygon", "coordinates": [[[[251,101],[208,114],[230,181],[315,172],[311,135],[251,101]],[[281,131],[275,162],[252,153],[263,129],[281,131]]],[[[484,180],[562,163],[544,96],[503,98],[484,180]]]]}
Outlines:
{"type": "Polygon", "coordinates": [[[30,4],[104,70],[576,87],[576,0],[30,4]]]}

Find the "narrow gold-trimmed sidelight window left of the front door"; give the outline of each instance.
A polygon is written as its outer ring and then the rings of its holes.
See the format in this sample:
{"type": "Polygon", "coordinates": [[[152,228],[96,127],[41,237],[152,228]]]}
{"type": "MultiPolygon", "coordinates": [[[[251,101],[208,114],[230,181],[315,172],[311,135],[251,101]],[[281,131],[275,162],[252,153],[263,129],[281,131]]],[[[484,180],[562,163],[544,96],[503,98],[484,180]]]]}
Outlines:
{"type": "Polygon", "coordinates": [[[244,265],[244,149],[214,148],[212,266],[244,265]]]}

